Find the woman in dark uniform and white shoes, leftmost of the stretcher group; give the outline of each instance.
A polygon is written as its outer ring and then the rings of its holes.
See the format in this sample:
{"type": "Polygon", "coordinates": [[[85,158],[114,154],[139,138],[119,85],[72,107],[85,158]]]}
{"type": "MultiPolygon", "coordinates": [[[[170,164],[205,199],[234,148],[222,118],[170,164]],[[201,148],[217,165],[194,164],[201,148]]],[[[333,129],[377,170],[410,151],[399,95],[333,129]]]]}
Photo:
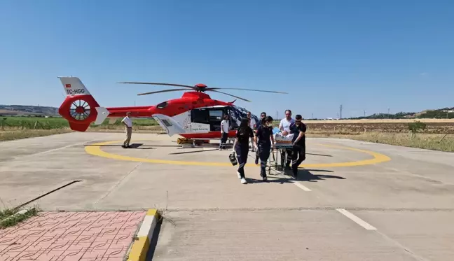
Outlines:
{"type": "Polygon", "coordinates": [[[254,141],[254,131],[249,127],[249,120],[244,118],[236,131],[235,141],[233,142],[233,151],[236,151],[238,159],[237,174],[242,184],[247,183],[245,178],[245,164],[247,162],[247,153],[249,153],[249,139],[254,143],[254,148],[257,148],[257,144],[254,141]]]}

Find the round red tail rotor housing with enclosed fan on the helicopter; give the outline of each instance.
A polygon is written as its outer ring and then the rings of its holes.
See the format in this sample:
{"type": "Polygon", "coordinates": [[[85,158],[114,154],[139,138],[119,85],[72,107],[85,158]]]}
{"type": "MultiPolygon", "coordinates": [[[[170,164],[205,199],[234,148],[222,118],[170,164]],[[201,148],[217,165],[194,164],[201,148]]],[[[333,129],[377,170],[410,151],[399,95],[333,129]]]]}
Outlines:
{"type": "Polygon", "coordinates": [[[97,118],[97,107],[99,104],[91,95],[74,95],[64,99],[58,113],[68,120],[72,130],[85,132],[97,118]]]}

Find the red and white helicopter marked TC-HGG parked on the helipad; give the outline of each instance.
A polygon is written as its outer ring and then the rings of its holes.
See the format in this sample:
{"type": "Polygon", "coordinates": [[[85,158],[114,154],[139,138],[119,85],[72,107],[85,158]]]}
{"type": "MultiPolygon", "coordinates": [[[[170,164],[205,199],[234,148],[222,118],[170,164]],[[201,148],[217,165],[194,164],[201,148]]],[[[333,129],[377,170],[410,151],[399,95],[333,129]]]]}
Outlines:
{"type": "MultiPolygon", "coordinates": [[[[242,118],[247,117],[247,110],[233,105],[236,101],[225,102],[212,99],[205,92],[218,92],[226,94],[243,101],[249,101],[232,94],[220,92],[221,89],[248,90],[255,92],[273,92],[286,94],[286,92],[274,92],[268,90],[251,90],[240,88],[220,88],[207,87],[204,84],[179,85],[170,83],[137,83],[125,82],[130,84],[149,84],[149,85],[168,85],[184,87],[180,89],[160,90],[156,92],[146,92],[138,95],[156,94],[160,92],[186,91],[181,98],[163,101],[156,106],[134,106],[134,107],[111,107],[104,108],[99,106],[92,97],[88,89],[77,77],[58,77],[67,94],[58,112],[63,118],[68,120],[72,130],[85,132],[92,122],[100,125],[106,118],[110,118],[110,123],[116,122],[118,118],[125,117],[127,112],[133,118],[154,118],[169,136],[178,134],[186,139],[220,139],[221,120],[223,115],[230,115],[231,131],[228,138],[235,137],[235,128],[240,125],[242,118]]],[[[251,113],[252,124],[259,122],[259,118],[251,113]]]]}

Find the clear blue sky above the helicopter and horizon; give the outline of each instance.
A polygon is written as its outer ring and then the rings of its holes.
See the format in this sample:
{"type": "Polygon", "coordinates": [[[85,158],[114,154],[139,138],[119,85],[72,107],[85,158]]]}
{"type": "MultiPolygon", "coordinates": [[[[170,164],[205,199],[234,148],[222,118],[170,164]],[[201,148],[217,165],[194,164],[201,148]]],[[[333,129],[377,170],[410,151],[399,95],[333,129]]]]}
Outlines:
{"type": "Polygon", "coordinates": [[[72,75],[101,106],[182,94],[118,81],[286,91],[230,93],[304,118],[454,106],[453,28],[448,0],[3,0],[0,104],[60,106],[72,75]]]}

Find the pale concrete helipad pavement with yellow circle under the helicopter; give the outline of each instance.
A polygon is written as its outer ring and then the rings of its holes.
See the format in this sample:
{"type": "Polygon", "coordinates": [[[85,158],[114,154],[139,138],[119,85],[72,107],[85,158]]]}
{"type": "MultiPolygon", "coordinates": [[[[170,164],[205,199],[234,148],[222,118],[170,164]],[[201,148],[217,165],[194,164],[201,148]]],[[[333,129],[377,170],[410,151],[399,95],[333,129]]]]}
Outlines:
{"type": "Polygon", "coordinates": [[[45,211],[167,209],[153,260],[454,259],[453,153],[308,138],[298,181],[263,183],[249,157],[242,185],[230,151],[155,134],[123,149],[123,136],[0,143],[0,198],[45,211]]]}

